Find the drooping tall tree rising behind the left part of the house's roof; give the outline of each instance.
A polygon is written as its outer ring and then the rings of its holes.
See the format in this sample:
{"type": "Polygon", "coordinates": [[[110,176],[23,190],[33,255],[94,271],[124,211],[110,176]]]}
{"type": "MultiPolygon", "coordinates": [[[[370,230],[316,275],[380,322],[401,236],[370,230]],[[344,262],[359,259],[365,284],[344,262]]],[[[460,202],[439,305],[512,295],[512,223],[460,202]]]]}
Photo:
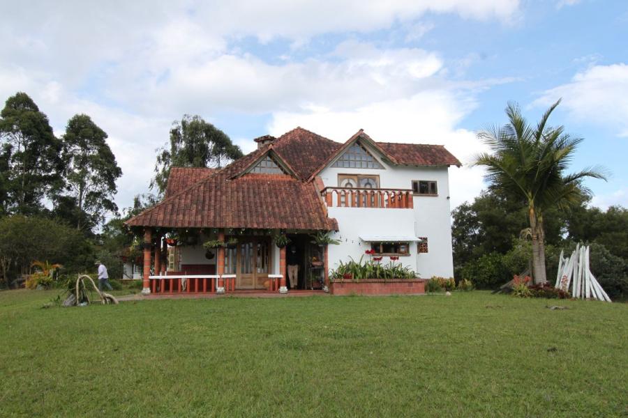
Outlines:
{"type": "Polygon", "coordinates": [[[242,157],[239,146],[225,132],[200,116],[184,115],[170,130],[170,144],[158,149],[156,176],[151,180],[160,194],[165,191],[170,167],[221,167],[242,157]],[[166,148],[166,146],[168,146],[166,148]]]}

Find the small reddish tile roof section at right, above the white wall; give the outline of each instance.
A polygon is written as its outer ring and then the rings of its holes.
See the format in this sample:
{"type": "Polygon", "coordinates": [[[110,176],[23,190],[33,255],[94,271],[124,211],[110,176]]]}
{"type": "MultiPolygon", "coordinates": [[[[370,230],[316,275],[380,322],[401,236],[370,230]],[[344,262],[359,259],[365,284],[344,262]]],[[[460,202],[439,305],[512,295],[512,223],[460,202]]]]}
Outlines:
{"type": "Polygon", "coordinates": [[[458,158],[454,157],[442,145],[426,144],[396,144],[391,142],[377,142],[377,144],[397,163],[415,166],[461,166],[458,158]]]}

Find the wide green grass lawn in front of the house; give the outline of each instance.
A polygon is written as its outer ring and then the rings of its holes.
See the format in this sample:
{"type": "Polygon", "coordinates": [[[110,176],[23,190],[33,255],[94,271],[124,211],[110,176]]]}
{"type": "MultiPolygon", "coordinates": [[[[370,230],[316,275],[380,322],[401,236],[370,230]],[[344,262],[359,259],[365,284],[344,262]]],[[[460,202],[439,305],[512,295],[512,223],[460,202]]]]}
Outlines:
{"type": "Polygon", "coordinates": [[[628,304],[54,295],[0,292],[2,416],[628,415],[628,304]]]}

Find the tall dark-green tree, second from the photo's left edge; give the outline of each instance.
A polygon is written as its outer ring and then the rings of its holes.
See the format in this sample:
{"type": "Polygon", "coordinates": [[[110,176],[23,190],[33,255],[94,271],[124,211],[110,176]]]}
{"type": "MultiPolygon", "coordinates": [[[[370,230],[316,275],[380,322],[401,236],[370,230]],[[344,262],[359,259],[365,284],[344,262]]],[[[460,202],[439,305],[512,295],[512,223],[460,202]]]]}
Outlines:
{"type": "Polygon", "coordinates": [[[118,210],[113,199],[122,170],[106,139],[105,131],[84,114],[73,116],[63,135],[66,189],[76,205],[77,229],[91,229],[107,212],[118,210]]]}

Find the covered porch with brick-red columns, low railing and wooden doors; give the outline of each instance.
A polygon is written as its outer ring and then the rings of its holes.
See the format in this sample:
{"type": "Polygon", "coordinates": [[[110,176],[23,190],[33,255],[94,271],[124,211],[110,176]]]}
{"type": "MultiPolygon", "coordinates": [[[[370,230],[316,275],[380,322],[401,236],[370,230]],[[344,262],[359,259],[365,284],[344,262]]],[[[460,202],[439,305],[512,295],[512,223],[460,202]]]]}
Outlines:
{"type": "Polygon", "coordinates": [[[327,245],[313,232],[144,227],[142,294],[327,291],[327,245]]]}

